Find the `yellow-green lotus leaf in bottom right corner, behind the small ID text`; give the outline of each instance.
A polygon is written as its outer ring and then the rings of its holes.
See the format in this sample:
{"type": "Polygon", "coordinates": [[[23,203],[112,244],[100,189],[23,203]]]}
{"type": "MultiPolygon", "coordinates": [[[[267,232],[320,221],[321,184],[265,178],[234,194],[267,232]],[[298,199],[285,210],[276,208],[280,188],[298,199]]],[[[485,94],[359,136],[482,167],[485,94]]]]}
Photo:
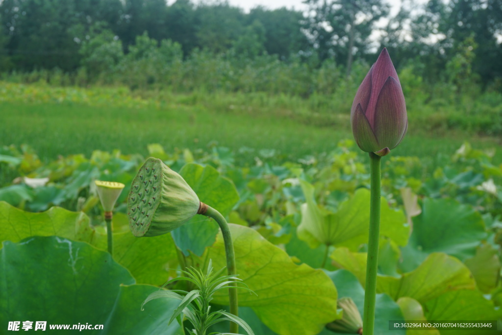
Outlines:
{"type": "MultiPolygon", "coordinates": [[[[502,312],[495,310],[493,303],[483,297],[479,290],[459,290],[447,292],[435,299],[429,300],[424,305],[425,316],[428,320],[471,320],[490,321],[497,320],[502,312]]],[[[454,331],[441,331],[455,335],[495,335],[497,330],[457,329],[454,331]]]]}

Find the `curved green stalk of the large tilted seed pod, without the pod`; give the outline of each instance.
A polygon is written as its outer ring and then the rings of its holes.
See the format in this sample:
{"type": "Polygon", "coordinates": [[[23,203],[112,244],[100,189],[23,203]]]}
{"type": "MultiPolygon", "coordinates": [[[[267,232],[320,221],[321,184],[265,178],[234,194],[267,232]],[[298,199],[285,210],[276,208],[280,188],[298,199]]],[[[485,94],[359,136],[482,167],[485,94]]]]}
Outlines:
{"type": "MultiPolygon", "coordinates": [[[[237,274],[237,269],[235,266],[235,254],[233,252],[232,236],[230,235],[230,228],[228,227],[228,223],[217,210],[204,203],[200,204],[201,205],[198,213],[214,219],[218,223],[221,229],[221,234],[223,235],[223,241],[225,244],[226,269],[228,275],[235,276],[237,274]],[[207,209],[205,209],[204,207],[206,207],[207,209]]],[[[230,313],[232,313],[235,316],[238,316],[237,283],[235,282],[230,283],[229,286],[232,286],[228,288],[228,297],[230,300],[230,313]]],[[[238,333],[239,325],[235,322],[230,322],[230,332],[238,333]]]]}

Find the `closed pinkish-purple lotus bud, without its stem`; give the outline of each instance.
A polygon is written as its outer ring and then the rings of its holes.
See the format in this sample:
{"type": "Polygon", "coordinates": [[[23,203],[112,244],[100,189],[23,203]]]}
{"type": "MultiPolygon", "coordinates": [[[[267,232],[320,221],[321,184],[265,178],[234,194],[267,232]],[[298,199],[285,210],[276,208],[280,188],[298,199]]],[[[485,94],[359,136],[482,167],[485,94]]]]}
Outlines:
{"type": "Polygon", "coordinates": [[[385,48],[355,94],[350,124],[361,150],[381,156],[398,146],[406,134],[405,97],[385,48]]]}

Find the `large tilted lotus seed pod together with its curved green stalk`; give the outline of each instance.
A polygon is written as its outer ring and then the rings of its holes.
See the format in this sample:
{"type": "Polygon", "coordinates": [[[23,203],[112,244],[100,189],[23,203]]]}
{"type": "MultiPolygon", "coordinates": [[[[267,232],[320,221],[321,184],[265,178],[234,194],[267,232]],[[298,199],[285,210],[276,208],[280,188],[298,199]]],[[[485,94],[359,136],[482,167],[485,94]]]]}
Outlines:
{"type": "MultiPolygon", "coordinates": [[[[185,180],[162,162],[150,157],[141,166],[128,197],[129,227],[136,237],[158,236],[188,223],[195,215],[213,218],[225,243],[228,275],[235,275],[235,255],[228,224],[214,208],[200,202],[185,180]]],[[[229,288],[230,312],[238,316],[237,286],[229,288]]],[[[230,332],[238,325],[230,322],[230,332]]]]}

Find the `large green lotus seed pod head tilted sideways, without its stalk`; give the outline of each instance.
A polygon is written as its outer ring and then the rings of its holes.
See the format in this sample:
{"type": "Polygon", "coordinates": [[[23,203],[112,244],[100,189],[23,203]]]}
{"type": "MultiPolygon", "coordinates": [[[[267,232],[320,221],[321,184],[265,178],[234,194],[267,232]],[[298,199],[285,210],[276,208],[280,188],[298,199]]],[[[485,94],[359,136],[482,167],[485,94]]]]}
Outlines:
{"type": "Polygon", "coordinates": [[[184,225],[200,201],[185,180],[162,160],[148,158],[131,185],[129,227],[134,236],[158,236],[184,225]]]}

